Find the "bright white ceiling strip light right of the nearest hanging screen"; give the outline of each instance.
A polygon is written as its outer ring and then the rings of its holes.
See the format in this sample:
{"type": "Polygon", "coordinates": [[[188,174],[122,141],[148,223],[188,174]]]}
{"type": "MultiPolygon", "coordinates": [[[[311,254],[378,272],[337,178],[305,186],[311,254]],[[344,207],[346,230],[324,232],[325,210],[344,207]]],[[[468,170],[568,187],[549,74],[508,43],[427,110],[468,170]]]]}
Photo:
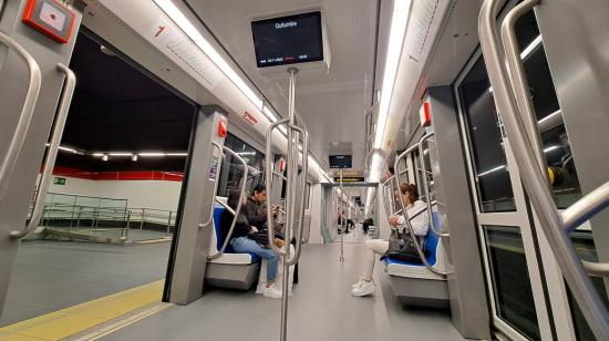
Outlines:
{"type": "Polygon", "coordinates": [[[380,148],[385,132],[386,118],[389,116],[389,106],[395,85],[398,65],[402,55],[402,46],[406,34],[409,23],[409,13],[411,0],[395,0],[393,2],[393,14],[391,17],[391,29],[389,31],[389,43],[385,58],[385,69],[383,72],[383,83],[381,87],[381,102],[379,104],[379,118],[376,124],[376,134],[374,136],[374,147],[380,148]]]}

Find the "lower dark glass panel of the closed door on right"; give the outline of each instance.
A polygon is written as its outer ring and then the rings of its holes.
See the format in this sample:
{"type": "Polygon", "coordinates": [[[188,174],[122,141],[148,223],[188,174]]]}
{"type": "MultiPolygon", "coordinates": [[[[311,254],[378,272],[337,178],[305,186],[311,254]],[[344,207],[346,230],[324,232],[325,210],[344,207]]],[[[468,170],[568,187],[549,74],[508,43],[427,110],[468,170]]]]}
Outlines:
{"type": "Polygon", "coordinates": [[[497,316],[529,339],[539,340],[539,327],[520,229],[483,226],[497,316]]]}

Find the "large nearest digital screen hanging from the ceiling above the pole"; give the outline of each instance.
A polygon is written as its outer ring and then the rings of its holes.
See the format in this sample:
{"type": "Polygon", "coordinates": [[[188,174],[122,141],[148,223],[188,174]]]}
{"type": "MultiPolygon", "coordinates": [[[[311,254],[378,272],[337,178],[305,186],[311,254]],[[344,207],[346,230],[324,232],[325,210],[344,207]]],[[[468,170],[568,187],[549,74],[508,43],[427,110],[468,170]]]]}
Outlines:
{"type": "Polygon", "coordinates": [[[323,60],[321,12],[251,22],[258,68],[323,60]]]}

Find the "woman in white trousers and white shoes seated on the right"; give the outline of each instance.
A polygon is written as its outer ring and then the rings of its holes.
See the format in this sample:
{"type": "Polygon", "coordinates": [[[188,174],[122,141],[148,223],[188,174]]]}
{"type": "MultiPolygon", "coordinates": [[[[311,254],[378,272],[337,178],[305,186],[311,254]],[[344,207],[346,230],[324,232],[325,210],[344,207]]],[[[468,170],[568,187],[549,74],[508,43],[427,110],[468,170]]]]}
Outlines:
{"type": "MultiPolygon", "coordinates": [[[[416,199],[419,197],[416,186],[402,184],[402,186],[400,186],[400,192],[409,217],[413,217],[419,211],[426,209],[425,203],[416,199]]],[[[389,218],[389,224],[392,228],[402,228],[406,225],[406,219],[403,215],[394,215],[389,218]]],[[[426,214],[420,214],[411,218],[411,225],[416,236],[424,237],[427,235],[430,218],[426,214]]],[[[376,286],[372,280],[372,271],[374,270],[374,262],[376,261],[375,255],[384,255],[388,250],[389,240],[370,239],[364,242],[363,275],[360,276],[360,280],[353,285],[353,289],[351,290],[353,296],[367,296],[376,290],[376,286]]]]}

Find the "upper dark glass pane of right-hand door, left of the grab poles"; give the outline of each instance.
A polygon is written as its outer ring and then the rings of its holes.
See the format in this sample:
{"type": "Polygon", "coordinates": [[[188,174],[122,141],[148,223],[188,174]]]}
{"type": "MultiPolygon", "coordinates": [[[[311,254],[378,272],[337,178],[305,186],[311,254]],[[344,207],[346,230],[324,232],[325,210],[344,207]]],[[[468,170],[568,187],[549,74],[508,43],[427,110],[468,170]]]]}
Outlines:
{"type": "Polygon", "coordinates": [[[458,85],[482,213],[516,210],[503,135],[482,56],[458,85]]]}

